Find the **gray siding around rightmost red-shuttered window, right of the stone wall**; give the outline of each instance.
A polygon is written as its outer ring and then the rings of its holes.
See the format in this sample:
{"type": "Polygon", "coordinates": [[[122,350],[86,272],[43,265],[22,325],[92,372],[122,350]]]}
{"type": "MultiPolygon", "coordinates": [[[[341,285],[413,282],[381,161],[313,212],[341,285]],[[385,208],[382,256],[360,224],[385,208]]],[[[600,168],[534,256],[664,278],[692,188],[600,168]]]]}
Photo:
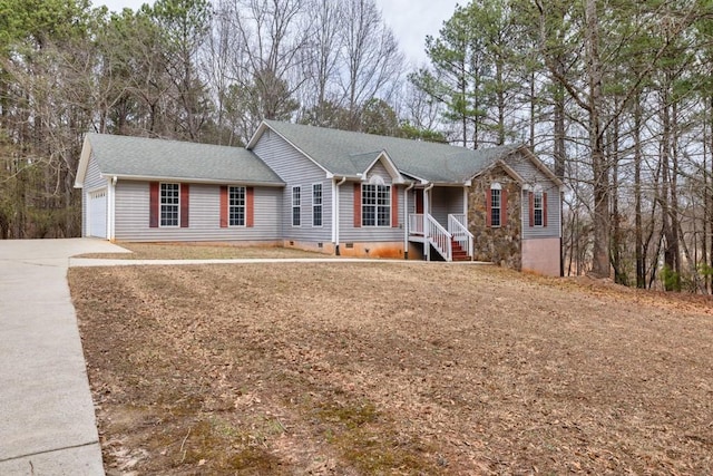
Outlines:
{"type": "Polygon", "coordinates": [[[517,172],[525,183],[538,185],[544,193],[547,193],[547,226],[530,226],[529,217],[529,191],[522,191],[522,240],[559,237],[560,235],[560,206],[559,206],[559,188],[540,172],[530,161],[521,155],[515,155],[507,158],[507,163],[515,172],[517,172]]]}

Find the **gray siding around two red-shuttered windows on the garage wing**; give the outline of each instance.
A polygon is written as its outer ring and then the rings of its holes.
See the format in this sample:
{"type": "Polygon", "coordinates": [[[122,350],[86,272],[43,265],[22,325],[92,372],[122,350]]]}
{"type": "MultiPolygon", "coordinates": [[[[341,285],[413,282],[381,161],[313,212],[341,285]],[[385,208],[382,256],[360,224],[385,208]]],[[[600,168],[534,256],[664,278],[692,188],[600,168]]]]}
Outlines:
{"type": "Polygon", "coordinates": [[[282,188],[254,187],[254,226],[221,227],[221,186],[189,184],[189,227],[148,226],[149,183],[116,185],[116,239],[120,241],[277,241],[282,188]]]}

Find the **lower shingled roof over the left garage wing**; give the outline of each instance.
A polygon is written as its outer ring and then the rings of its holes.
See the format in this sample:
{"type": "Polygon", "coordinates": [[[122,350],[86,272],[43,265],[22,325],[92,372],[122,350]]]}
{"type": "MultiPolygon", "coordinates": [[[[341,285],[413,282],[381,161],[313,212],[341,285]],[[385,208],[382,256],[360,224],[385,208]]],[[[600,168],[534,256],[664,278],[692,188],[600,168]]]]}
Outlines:
{"type": "Polygon", "coordinates": [[[260,157],[242,147],[87,134],[85,150],[78,184],[84,182],[86,162],[92,155],[105,176],[284,185],[260,157]]]}

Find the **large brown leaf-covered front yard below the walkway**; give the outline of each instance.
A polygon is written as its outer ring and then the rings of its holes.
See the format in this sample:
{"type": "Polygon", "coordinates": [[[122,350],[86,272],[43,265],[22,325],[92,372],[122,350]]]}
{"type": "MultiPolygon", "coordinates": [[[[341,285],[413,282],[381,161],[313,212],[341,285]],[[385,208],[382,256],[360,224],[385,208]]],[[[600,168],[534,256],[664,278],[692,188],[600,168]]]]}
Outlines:
{"type": "Polygon", "coordinates": [[[423,263],[71,269],[108,475],[713,474],[713,302],[423,263]]]}

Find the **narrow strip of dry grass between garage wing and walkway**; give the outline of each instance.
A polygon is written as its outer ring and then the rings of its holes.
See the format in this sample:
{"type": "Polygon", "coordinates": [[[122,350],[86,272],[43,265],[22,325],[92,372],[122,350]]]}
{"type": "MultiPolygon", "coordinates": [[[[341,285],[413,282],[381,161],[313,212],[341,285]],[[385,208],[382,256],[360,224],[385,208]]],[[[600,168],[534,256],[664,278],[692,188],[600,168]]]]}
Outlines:
{"type": "Polygon", "coordinates": [[[281,246],[240,246],[232,244],[206,243],[128,243],[117,245],[131,253],[87,253],[77,258],[98,258],[109,260],[231,260],[252,258],[332,258],[328,254],[281,247],[281,246]]]}

